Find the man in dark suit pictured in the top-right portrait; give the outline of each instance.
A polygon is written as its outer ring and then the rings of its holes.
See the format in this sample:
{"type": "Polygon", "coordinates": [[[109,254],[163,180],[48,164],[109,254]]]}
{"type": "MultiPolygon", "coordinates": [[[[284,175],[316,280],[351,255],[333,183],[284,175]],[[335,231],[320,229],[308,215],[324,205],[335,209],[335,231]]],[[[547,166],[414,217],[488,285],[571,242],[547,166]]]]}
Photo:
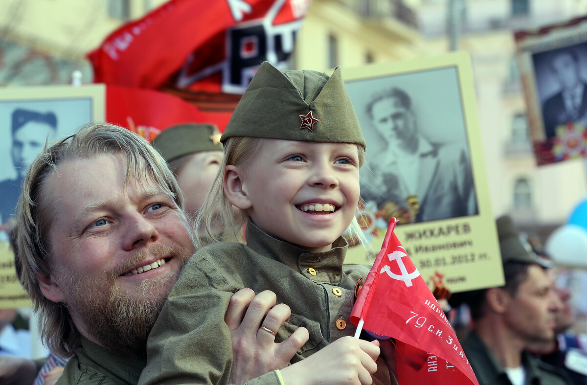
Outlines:
{"type": "MultiPolygon", "coordinates": [[[[581,77],[581,58],[572,48],[549,55],[549,75],[559,86],[542,104],[546,139],[556,137],[556,128],[587,118],[587,84],[581,77]]],[[[538,79],[540,81],[540,79],[538,79]]]]}

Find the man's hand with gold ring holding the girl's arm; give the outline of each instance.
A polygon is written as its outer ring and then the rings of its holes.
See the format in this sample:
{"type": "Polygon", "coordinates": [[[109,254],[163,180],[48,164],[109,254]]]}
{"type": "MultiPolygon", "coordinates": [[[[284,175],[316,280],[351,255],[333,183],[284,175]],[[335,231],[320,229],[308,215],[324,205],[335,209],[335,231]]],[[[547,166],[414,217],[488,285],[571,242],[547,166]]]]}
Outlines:
{"type": "Polygon", "coordinates": [[[231,384],[242,384],[275,369],[282,369],[308,341],[308,330],[298,327],[284,342],[275,343],[275,335],[261,329],[277,332],[289,319],[289,306],[275,305],[277,297],[271,291],[255,296],[251,289],[242,289],[232,295],[224,320],[231,330],[232,372],[231,384]]]}

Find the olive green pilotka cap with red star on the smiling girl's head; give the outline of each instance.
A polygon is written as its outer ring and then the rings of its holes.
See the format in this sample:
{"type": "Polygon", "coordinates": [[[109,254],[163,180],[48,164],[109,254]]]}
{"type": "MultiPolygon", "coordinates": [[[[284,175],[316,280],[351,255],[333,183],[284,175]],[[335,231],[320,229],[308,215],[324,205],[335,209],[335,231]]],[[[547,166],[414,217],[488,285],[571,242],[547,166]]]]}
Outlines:
{"type": "Polygon", "coordinates": [[[312,70],[281,72],[269,62],[262,63],[221,141],[235,136],[366,147],[339,67],[329,77],[312,70]]]}

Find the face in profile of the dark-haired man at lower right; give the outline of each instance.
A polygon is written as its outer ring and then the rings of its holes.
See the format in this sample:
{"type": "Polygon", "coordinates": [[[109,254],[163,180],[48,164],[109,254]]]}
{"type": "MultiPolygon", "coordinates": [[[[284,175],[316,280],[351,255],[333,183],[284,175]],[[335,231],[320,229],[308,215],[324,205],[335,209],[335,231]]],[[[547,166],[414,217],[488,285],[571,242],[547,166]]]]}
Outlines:
{"type": "Polygon", "coordinates": [[[545,342],[554,337],[555,315],[561,301],[551,277],[538,265],[528,267],[528,277],[510,297],[505,324],[526,342],[545,342]]]}

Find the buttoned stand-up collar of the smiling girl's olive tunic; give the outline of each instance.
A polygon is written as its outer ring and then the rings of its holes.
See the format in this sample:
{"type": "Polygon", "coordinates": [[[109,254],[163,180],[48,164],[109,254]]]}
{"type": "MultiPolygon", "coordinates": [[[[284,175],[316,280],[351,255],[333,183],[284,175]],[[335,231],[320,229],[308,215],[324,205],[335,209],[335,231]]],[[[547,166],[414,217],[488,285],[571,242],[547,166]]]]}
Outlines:
{"type": "Polygon", "coordinates": [[[329,251],[306,251],[266,234],[251,221],[247,223],[247,245],[259,254],[287,265],[314,282],[330,284],[336,284],[342,279],[342,264],[348,248],[345,238],[340,236],[333,242],[329,251]],[[316,275],[310,273],[310,269],[313,269],[316,275]]]}

